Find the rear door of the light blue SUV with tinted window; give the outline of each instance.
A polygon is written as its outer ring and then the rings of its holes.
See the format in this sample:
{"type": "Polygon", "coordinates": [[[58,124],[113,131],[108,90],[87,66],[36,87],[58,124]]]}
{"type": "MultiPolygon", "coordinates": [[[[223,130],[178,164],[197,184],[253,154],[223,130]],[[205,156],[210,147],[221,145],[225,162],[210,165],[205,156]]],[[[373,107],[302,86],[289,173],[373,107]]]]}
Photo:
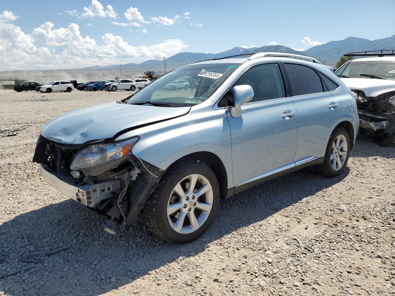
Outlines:
{"type": "Polygon", "coordinates": [[[297,113],[295,162],[324,157],[333,126],[340,118],[340,102],[312,67],[285,62],[283,67],[297,113]]]}

